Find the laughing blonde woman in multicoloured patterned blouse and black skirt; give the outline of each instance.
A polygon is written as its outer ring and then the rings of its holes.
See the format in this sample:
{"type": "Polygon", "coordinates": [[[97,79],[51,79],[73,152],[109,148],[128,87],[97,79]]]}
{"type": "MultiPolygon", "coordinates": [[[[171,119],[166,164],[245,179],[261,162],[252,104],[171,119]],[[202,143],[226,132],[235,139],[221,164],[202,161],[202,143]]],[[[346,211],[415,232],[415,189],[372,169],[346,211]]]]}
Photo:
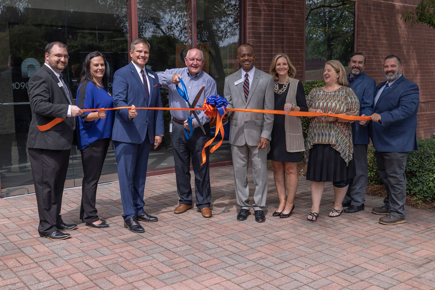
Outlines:
{"type": "MultiPolygon", "coordinates": [[[[357,116],[359,101],[348,86],[345,68],[338,60],[329,60],[323,71],[324,87],[316,87],[307,97],[308,111],[357,116]]],[[[335,201],[328,217],[343,212],[341,202],[348,189],[348,179],[355,176],[352,160],[352,128],[349,120],[335,117],[314,117],[308,127],[305,160],[307,180],[311,180],[311,212],[307,220],[316,221],[325,182],[334,185],[335,201]]]]}

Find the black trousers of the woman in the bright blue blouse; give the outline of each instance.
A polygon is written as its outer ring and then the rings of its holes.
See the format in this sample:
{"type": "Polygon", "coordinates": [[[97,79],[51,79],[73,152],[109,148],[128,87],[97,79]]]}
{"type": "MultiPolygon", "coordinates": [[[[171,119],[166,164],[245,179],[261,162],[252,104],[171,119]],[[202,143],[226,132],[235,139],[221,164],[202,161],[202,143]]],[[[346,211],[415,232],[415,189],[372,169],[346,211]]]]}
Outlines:
{"type": "Polygon", "coordinates": [[[94,223],[100,218],[95,208],[97,185],[103,170],[109,138],[95,140],[84,149],[80,150],[83,164],[82,200],[80,204],[80,220],[94,223]]]}

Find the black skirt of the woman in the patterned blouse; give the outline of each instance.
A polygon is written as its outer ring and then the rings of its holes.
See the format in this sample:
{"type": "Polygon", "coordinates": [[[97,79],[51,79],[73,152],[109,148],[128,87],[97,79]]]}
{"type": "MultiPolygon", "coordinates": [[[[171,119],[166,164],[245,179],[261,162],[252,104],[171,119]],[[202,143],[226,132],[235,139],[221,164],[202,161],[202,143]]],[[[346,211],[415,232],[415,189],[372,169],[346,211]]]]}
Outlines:
{"type": "Polygon", "coordinates": [[[340,152],[331,147],[331,144],[314,144],[310,149],[307,166],[307,180],[315,182],[339,181],[352,178],[356,175],[355,163],[346,161],[340,152]]]}

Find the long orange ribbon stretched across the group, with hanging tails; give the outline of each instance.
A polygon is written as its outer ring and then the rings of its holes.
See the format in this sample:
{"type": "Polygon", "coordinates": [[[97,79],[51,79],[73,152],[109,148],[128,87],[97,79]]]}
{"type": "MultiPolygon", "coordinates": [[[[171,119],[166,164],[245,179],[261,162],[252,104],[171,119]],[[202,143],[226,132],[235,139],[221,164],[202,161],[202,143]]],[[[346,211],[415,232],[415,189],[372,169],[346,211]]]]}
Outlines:
{"type": "MultiPolygon", "coordinates": [[[[109,108],[109,109],[83,109],[84,112],[90,112],[90,111],[98,111],[98,110],[118,110],[118,109],[131,109],[132,107],[116,107],[116,108],[109,108]]],[[[213,107],[206,103],[204,100],[204,103],[201,108],[194,108],[194,109],[184,109],[184,108],[145,108],[145,107],[137,107],[136,109],[148,109],[148,110],[173,110],[173,111],[204,111],[204,113],[207,115],[207,117],[211,119],[216,119],[216,130],[214,133],[214,137],[205,143],[204,148],[202,149],[201,155],[202,155],[202,164],[205,163],[207,160],[205,156],[205,148],[207,148],[211,143],[214,142],[214,139],[218,136],[218,132],[221,133],[222,139],[214,145],[210,149],[210,153],[213,153],[216,149],[218,149],[223,140],[224,140],[224,125],[222,124],[222,118],[224,115],[220,115],[218,113],[218,110],[216,107],[213,107]]],[[[280,115],[289,115],[289,116],[298,116],[298,117],[319,117],[319,116],[329,116],[329,117],[336,117],[340,119],[345,120],[353,120],[353,121],[369,121],[371,120],[370,116],[350,116],[350,115],[341,115],[341,114],[334,114],[334,113],[313,113],[313,112],[296,112],[296,111],[290,111],[288,114],[284,113],[284,111],[280,110],[260,110],[260,109],[228,109],[224,108],[225,113],[227,111],[234,111],[234,112],[252,112],[252,113],[270,113],[270,114],[280,114],[280,115]]],[[[54,125],[62,122],[65,119],[62,118],[55,118],[50,123],[47,123],[45,125],[38,125],[38,129],[40,131],[46,131],[53,127],[54,125]]]]}

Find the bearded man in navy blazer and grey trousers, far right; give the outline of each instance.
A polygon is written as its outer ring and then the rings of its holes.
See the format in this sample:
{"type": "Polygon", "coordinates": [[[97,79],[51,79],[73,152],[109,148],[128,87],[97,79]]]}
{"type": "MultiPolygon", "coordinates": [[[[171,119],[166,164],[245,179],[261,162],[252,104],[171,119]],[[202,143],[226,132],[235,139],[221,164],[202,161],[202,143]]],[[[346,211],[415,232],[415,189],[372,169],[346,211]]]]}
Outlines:
{"type": "Polygon", "coordinates": [[[372,213],[385,215],[379,223],[405,223],[408,153],[417,150],[417,111],[420,102],[418,85],[402,75],[402,62],[395,55],[384,60],[384,77],[376,88],[371,115],[370,137],[375,146],[378,172],[384,181],[387,197],[384,205],[372,213]]]}

